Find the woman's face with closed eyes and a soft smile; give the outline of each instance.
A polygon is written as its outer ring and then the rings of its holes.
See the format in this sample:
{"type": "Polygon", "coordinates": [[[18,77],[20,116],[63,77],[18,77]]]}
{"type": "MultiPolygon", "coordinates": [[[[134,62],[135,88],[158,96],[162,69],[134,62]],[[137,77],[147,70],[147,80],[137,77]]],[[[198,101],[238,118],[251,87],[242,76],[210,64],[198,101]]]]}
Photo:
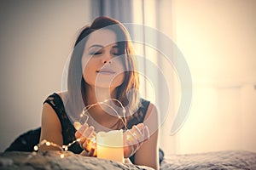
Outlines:
{"type": "Polygon", "coordinates": [[[82,57],[83,77],[91,87],[116,88],[124,82],[125,73],[119,56],[117,37],[113,31],[93,31],[84,48],[82,57]]]}

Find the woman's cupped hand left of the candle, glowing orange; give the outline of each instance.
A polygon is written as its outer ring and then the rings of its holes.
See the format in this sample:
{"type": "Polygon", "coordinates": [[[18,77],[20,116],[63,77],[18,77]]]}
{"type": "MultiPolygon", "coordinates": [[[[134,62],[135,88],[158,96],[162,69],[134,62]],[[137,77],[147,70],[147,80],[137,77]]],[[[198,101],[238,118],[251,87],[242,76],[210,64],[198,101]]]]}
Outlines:
{"type": "Polygon", "coordinates": [[[87,156],[96,156],[96,132],[94,127],[87,123],[81,125],[79,122],[74,122],[76,139],[79,139],[80,146],[87,151],[87,156]]]}

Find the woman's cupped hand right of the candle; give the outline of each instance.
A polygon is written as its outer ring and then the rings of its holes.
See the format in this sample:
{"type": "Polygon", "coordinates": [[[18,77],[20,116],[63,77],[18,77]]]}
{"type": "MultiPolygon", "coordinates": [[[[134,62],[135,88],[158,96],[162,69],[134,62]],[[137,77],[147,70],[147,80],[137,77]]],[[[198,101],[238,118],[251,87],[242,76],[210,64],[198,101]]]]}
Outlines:
{"type": "Polygon", "coordinates": [[[131,129],[124,133],[124,156],[125,158],[132,156],[143,144],[149,139],[148,127],[143,123],[134,125],[131,129]]]}

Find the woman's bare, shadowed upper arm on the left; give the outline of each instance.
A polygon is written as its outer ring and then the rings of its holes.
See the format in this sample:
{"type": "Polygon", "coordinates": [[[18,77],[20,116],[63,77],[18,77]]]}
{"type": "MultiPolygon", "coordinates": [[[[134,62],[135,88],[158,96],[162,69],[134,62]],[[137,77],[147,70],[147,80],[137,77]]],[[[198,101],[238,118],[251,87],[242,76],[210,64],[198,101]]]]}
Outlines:
{"type": "MultiPolygon", "coordinates": [[[[43,106],[42,121],[41,121],[41,136],[42,140],[48,140],[62,146],[63,139],[61,134],[61,122],[55,113],[54,109],[47,103],[43,106]]],[[[41,145],[39,150],[60,150],[53,146],[41,145]]]]}

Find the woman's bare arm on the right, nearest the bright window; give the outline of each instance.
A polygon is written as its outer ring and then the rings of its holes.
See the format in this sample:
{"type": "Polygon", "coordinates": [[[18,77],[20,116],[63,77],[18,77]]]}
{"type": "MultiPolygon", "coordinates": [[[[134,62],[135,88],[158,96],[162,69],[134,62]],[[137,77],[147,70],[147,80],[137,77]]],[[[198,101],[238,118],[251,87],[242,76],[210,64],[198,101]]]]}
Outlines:
{"type": "Polygon", "coordinates": [[[159,116],[153,104],[148,106],[144,125],[148,126],[150,137],[143,142],[135,154],[135,164],[159,169],[159,116]]]}

